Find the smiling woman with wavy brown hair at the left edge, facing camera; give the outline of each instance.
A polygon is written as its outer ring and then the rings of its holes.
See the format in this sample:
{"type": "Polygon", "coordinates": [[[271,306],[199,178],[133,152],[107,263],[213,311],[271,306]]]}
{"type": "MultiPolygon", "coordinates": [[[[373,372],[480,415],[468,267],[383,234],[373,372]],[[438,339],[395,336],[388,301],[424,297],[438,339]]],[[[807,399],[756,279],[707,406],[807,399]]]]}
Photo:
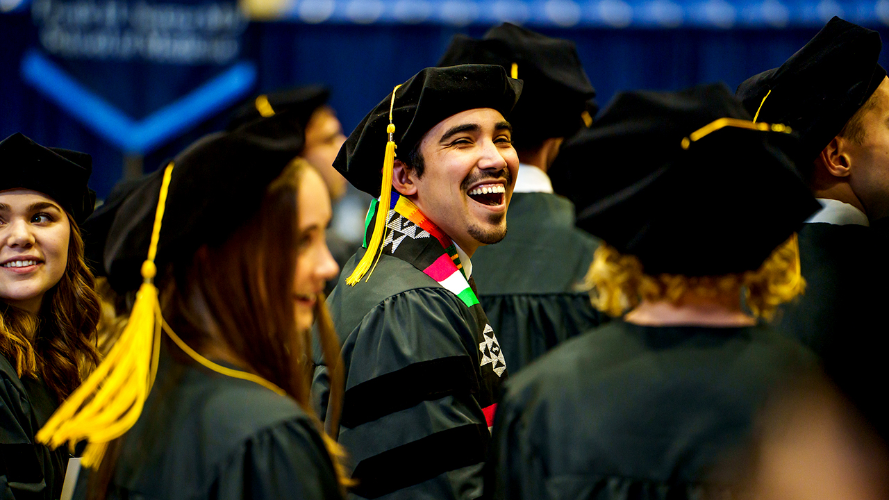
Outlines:
{"type": "Polygon", "coordinates": [[[92,160],[16,133],[0,163],[0,497],[50,500],[70,455],[34,436],[99,361],[78,229],[92,213],[92,160]]]}

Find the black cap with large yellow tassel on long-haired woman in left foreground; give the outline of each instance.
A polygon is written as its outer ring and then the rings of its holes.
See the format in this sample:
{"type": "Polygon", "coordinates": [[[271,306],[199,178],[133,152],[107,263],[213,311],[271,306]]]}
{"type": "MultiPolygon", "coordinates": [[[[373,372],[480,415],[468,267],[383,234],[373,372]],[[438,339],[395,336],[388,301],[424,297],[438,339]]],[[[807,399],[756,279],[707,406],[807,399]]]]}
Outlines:
{"type": "Polygon", "coordinates": [[[284,393],[257,375],[220,367],[183,343],[161,317],[154,278],[158,264],[190,260],[199,246],[220,244],[244,224],[301,145],[269,140],[249,128],[214,133],[161,173],[131,185],[116,207],[104,252],[112,277],[141,271],[130,319],[108,356],[37,433],[38,441],[58,447],[86,440],[84,465],[100,464],[108,442],[139,418],[154,383],[162,329],[205,367],[284,393]]]}

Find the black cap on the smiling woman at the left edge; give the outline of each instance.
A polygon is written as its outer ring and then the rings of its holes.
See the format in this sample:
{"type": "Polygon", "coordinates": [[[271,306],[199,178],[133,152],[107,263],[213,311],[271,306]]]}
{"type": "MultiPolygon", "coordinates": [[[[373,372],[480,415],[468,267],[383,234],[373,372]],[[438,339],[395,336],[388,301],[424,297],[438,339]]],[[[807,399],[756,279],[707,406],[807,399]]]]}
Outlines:
{"type": "Polygon", "coordinates": [[[73,215],[77,224],[92,214],[96,194],[86,185],[92,173],[90,155],[45,148],[22,133],[13,133],[0,141],[0,165],[0,190],[24,188],[44,193],[73,215]]]}

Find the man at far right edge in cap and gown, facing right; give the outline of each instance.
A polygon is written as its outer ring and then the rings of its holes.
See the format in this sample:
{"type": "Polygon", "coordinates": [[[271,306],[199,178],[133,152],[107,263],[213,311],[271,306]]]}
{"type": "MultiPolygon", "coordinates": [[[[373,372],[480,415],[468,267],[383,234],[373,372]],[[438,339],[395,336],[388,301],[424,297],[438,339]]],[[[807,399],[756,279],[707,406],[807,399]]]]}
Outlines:
{"type": "Polygon", "coordinates": [[[884,328],[880,312],[889,296],[885,256],[868,227],[889,215],[889,78],[877,63],[881,46],[876,31],[835,17],[781,67],[737,91],[755,120],[799,133],[797,165],[811,171],[809,186],[823,206],[799,232],[808,287],[780,327],[823,357],[866,415],[877,415],[874,384],[885,375],[865,374],[884,364],[865,357],[882,357],[889,347],[877,345],[885,335],[873,335],[884,328]]]}

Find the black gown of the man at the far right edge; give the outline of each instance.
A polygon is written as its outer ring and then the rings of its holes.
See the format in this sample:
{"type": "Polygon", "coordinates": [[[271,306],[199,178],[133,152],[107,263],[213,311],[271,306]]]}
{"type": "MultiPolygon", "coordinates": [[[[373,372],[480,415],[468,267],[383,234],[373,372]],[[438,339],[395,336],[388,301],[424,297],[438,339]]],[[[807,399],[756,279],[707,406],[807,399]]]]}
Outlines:
{"type": "Polygon", "coordinates": [[[781,306],[775,327],[815,351],[831,380],[886,438],[889,412],[874,397],[889,376],[889,336],[883,333],[887,262],[878,235],[855,224],[803,224],[799,253],[805,294],[781,306]]]}

